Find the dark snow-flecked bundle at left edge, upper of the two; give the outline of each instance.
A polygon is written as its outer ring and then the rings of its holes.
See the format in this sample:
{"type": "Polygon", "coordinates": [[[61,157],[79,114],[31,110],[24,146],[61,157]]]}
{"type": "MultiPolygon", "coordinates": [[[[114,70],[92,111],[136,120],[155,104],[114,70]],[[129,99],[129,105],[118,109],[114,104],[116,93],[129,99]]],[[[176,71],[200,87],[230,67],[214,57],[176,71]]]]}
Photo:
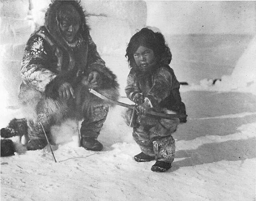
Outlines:
{"type": "Polygon", "coordinates": [[[1,129],[2,138],[11,138],[27,134],[26,119],[12,119],[7,127],[1,129]]]}

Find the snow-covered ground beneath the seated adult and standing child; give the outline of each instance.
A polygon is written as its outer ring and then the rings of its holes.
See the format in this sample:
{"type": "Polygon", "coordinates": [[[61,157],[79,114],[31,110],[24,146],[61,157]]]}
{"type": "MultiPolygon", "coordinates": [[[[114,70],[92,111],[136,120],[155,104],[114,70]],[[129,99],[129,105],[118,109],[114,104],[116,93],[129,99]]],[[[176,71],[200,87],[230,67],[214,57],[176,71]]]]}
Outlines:
{"type": "MultiPolygon", "coordinates": [[[[255,51],[255,46],[250,48],[249,52],[255,51]]],[[[175,58],[175,51],[173,54],[175,58]]],[[[121,72],[121,88],[128,73],[123,55],[102,56],[114,72],[121,72]]],[[[244,60],[251,58],[245,52],[244,60]]],[[[98,138],[103,151],[87,151],[69,142],[54,147],[57,163],[46,148],[22,153],[18,147],[15,156],[1,157],[1,200],[255,200],[256,96],[251,89],[256,83],[249,80],[246,84],[237,76],[243,63],[234,64],[234,75],[227,75],[225,82],[215,86],[206,79],[181,86],[188,122],[179,125],[173,135],[176,159],[167,172],[152,172],[154,161],[133,160],[140,149],[132,139],[132,128],[121,118],[124,109],[116,106],[98,138]],[[245,84],[232,88],[233,78],[245,84]]],[[[240,74],[249,74],[251,64],[247,62],[240,74]]],[[[0,126],[5,127],[13,117],[22,117],[19,109],[3,109],[0,126]]],[[[67,129],[71,133],[76,129],[72,126],[67,129]]]]}

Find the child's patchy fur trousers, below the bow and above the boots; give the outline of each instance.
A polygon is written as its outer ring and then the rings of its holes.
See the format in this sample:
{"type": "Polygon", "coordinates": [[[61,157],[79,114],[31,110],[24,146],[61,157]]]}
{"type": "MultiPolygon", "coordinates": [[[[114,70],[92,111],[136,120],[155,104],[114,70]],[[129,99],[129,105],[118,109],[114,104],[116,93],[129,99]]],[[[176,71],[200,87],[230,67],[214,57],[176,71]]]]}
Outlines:
{"type": "Polygon", "coordinates": [[[135,115],[134,119],[132,137],[142,152],[155,157],[156,161],[172,163],[175,155],[172,133],[177,129],[179,119],[161,119],[145,115],[135,115]]]}

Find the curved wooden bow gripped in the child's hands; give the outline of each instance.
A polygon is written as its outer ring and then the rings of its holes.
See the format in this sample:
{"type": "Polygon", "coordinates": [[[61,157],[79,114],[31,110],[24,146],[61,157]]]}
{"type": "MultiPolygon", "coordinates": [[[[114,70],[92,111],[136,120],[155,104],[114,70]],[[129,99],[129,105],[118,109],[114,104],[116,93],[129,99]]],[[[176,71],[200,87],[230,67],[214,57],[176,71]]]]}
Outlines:
{"type": "MultiPolygon", "coordinates": [[[[132,109],[132,110],[134,109],[134,105],[129,105],[129,104],[126,104],[126,103],[122,103],[122,102],[113,100],[111,98],[108,98],[106,96],[103,96],[102,94],[93,90],[92,88],[89,88],[89,91],[90,91],[91,94],[94,94],[95,96],[98,96],[99,98],[101,98],[105,101],[108,101],[110,103],[114,103],[116,105],[120,105],[120,106],[123,106],[123,107],[127,107],[127,108],[132,109]]],[[[161,117],[163,119],[184,118],[184,117],[188,116],[186,114],[165,114],[165,113],[159,113],[159,112],[155,112],[155,111],[148,111],[146,113],[146,115],[147,114],[157,116],[157,117],[161,117]]]]}

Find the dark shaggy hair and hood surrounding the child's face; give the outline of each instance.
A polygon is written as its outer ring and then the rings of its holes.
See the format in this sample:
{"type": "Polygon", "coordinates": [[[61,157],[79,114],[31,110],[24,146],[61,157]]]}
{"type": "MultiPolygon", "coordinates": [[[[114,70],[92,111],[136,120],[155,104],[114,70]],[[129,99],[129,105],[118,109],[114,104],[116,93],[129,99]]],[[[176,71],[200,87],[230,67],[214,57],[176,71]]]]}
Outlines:
{"type": "Polygon", "coordinates": [[[158,63],[169,64],[172,59],[172,54],[170,53],[169,47],[165,44],[162,33],[155,33],[151,29],[143,28],[132,36],[126,48],[125,56],[128,58],[131,68],[136,65],[133,54],[140,46],[153,50],[158,63]]]}

